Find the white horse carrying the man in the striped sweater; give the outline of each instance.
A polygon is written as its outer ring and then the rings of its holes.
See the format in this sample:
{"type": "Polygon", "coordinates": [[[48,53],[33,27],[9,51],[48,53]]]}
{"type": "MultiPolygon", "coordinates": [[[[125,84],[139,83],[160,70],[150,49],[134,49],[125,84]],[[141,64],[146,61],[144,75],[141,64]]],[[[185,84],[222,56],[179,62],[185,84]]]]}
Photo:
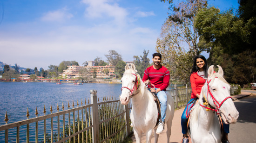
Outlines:
{"type": "MultiPolygon", "coordinates": [[[[134,126],[136,143],[141,143],[142,132],[146,135],[146,143],[151,142],[153,129],[157,122],[158,111],[154,97],[141,80],[140,75],[135,70],[135,65],[128,63],[125,66],[125,72],[122,81],[122,93],[120,96],[121,104],[127,105],[129,100],[132,102],[131,122],[134,126]]],[[[167,126],[167,143],[171,135],[172,119],[174,116],[174,100],[167,93],[167,111],[165,123],[167,126]]],[[[156,129],[154,129],[156,131],[156,129]]],[[[158,134],[155,133],[155,143],[158,140],[158,134]]]]}

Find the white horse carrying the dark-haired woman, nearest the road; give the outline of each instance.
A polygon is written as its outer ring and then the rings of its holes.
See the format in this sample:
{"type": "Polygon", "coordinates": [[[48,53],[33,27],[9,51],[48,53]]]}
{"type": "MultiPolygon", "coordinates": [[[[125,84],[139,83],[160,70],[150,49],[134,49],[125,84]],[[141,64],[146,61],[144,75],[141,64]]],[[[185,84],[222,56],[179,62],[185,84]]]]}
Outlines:
{"type": "Polygon", "coordinates": [[[220,66],[218,73],[208,69],[208,79],[202,87],[199,102],[190,114],[190,132],[192,143],[221,143],[221,127],[216,114],[221,115],[226,124],[235,124],[239,116],[230,97],[230,86],[223,78],[220,66]]]}

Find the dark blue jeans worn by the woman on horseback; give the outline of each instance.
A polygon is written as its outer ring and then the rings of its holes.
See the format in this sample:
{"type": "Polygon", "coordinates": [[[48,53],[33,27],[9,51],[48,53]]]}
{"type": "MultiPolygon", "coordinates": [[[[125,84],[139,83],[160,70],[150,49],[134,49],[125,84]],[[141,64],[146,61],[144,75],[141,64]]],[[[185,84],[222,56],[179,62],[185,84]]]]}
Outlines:
{"type": "MultiPolygon", "coordinates": [[[[190,99],[188,104],[192,101],[193,99],[190,99]]],[[[189,113],[189,109],[193,104],[190,104],[188,106],[188,113],[189,113]]],[[[187,106],[185,107],[183,113],[182,113],[182,134],[186,134],[188,132],[188,118],[186,117],[186,111],[187,111],[187,106]]],[[[228,134],[229,133],[229,124],[225,124],[224,121],[222,120],[223,123],[223,130],[224,133],[228,134]]]]}

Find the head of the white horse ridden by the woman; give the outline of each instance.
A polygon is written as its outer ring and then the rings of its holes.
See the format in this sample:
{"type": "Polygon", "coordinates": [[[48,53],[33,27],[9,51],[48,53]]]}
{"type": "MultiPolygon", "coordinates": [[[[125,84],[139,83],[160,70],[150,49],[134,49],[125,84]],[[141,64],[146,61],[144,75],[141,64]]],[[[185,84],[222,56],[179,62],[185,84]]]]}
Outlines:
{"type": "Polygon", "coordinates": [[[204,96],[206,102],[221,114],[226,124],[235,124],[239,116],[238,111],[230,97],[230,85],[223,78],[223,70],[218,66],[218,72],[214,72],[213,65],[208,69],[207,82],[203,86],[201,95],[204,96]]]}

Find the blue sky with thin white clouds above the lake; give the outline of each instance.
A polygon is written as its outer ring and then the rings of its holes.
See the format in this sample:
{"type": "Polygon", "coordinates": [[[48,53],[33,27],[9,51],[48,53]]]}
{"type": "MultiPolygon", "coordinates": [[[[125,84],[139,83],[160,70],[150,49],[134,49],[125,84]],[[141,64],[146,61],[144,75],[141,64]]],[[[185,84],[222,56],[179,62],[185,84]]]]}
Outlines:
{"type": "MultiPolygon", "coordinates": [[[[237,0],[209,5],[238,8],[237,0]]],[[[149,50],[151,59],[168,6],[160,0],[0,0],[0,62],[46,70],[62,61],[107,61],[109,50],[123,61],[149,50]]]]}

